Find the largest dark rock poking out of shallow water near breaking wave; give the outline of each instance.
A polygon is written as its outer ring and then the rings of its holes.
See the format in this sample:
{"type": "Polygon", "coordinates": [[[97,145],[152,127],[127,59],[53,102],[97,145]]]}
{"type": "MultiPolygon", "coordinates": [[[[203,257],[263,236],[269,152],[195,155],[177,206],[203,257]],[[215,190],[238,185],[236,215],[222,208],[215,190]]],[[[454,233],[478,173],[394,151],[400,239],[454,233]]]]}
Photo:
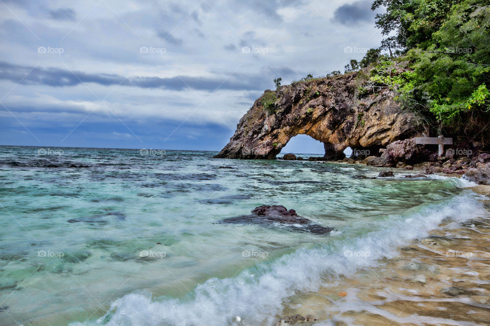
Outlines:
{"type": "Polygon", "coordinates": [[[252,210],[251,215],[238,216],[236,218],[228,218],[222,221],[223,223],[240,223],[240,224],[271,224],[273,222],[291,226],[295,231],[308,231],[312,233],[325,234],[334,230],[331,227],[323,227],[313,224],[312,221],[300,216],[294,209],[287,210],[282,205],[262,205],[252,210]],[[302,225],[304,227],[297,227],[302,225]]]}

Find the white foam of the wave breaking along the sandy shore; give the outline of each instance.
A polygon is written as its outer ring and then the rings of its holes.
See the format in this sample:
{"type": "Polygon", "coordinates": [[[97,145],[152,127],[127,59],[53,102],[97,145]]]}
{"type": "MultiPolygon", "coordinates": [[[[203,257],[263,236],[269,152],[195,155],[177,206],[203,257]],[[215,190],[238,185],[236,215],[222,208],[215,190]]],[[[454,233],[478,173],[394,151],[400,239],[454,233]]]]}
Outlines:
{"type": "MultiPolygon", "coordinates": [[[[285,298],[296,291],[316,291],[326,281],[340,275],[351,276],[359,268],[375,265],[384,256],[393,257],[398,246],[426,236],[446,218],[460,221],[483,212],[482,204],[472,193],[463,192],[410,216],[390,216],[380,222],[379,231],[345,242],[339,239],[330,247],[301,249],[275,262],[245,270],[235,278],[210,279],[197,286],[194,297],[188,301],[158,302],[148,293],[125,295],[113,303],[110,310],[113,315],[107,325],[273,324],[285,298]]],[[[102,319],[94,324],[102,324],[102,319]]]]}

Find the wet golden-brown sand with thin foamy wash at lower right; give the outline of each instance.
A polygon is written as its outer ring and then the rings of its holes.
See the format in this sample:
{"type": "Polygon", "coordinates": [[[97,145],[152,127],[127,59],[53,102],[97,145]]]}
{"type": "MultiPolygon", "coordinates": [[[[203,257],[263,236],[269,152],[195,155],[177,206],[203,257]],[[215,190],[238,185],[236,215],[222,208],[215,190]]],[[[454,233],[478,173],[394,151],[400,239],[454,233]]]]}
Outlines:
{"type": "MultiPolygon", "coordinates": [[[[473,191],[488,196],[490,187],[473,191]]],[[[490,210],[490,200],[484,205],[490,210]]],[[[430,234],[378,267],[316,293],[298,293],[282,316],[317,321],[278,325],[490,325],[490,214],[448,221],[430,234]]]]}

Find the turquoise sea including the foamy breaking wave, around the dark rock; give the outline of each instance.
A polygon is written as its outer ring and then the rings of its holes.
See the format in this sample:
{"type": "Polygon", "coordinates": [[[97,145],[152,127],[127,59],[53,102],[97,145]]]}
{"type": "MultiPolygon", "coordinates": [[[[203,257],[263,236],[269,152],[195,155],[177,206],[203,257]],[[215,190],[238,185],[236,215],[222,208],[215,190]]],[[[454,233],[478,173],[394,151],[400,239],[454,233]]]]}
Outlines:
{"type": "Polygon", "coordinates": [[[296,291],[485,213],[456,178],[214,154],[0,147],[0,325],[269,325],[296,291]],[[219,223],[262,204],[336,231],[219,223]]]}

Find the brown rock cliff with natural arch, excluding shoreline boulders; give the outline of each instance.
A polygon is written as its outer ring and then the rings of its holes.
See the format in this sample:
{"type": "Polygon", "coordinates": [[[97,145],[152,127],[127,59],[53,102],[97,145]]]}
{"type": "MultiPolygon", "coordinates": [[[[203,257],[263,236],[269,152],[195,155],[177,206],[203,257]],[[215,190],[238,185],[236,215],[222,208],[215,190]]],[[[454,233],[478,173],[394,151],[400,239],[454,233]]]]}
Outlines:
{"type": "Polygon", "coordinates": [[[416,133],[418,119],[401,110],[394,92],[362,95],[356,77],[313,79],[265,91],[215,157],[273,159],[298,134],[323,142],[326,159],[344,157],[348,146],[376,155],[378,148],[416,133]]]}

